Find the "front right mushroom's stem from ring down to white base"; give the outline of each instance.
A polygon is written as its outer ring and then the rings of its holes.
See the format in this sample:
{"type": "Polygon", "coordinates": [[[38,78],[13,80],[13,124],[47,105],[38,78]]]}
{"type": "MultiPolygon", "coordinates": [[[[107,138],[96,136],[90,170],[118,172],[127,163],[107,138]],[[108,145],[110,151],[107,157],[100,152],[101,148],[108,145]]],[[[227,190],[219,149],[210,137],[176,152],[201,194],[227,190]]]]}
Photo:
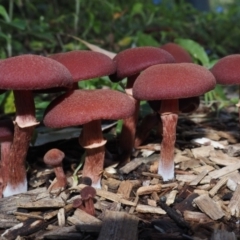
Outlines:
{"type": "Polygon", "coordinates": [[[161,154],[158,165],[158,174],[163,181],[174,178],[174,145],[176,141],[176,126],[178,115],[168,113],[161,115],[163,126],[163,139],[161,143],[161,154]]]}

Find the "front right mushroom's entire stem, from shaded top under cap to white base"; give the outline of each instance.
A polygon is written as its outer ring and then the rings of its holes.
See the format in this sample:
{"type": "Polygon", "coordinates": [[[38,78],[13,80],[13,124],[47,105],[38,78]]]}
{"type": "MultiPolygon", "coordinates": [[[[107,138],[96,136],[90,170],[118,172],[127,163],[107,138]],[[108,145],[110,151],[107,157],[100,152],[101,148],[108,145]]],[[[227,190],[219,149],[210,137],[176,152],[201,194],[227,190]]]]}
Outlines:
{"type": "Polygon", "coordinates": [[[162,101],[160,114],[163,127],[163,139],[158,165],[158,174],[163,181],[174,178],[174,145],[176,141],[176,126],[178,120],[178,100],[162,101]]]}

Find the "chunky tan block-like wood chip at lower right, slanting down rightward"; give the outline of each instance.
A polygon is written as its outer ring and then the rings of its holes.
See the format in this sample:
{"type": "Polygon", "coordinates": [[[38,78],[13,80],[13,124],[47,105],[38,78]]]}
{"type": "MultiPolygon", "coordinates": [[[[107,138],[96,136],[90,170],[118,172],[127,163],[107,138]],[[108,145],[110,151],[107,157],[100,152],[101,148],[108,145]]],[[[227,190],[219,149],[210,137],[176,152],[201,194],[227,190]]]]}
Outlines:
{"type": "Polygon", "coordinates": [[[202,212],[206,213],[213,220],[220,219],[224,216],[224,212],[219,205],[208,195],[201,195],[193,201],[202,212]]]}

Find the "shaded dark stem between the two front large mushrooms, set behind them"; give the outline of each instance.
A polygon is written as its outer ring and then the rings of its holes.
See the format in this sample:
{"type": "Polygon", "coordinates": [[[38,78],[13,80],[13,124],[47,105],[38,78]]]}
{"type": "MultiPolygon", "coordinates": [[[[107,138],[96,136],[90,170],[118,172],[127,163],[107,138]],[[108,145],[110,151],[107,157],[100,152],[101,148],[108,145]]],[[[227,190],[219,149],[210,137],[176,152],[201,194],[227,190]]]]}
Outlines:
{"type": "Polygon", "coordinates": [[[135,110],[132,116],[123,119],[122,131],[119,135],[119,146],[120,150],[124,156],[121,160],[122,162],[129,162],[131,153],[134,149],[135,133],[138,121],[140,101],[133,98],[132,96],[132,87],[139,74],[135,74],[131,77],[128,77],[126,85],[126,93],[131,97],[135,103],[135,110]]]}

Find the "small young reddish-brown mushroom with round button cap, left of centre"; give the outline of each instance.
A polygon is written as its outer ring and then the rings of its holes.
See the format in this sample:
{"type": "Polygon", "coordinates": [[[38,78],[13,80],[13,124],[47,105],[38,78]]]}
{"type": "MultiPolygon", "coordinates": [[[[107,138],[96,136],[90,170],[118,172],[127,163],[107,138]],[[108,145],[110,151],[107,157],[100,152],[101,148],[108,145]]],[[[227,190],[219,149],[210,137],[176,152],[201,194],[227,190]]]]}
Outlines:
{"type": "Polygon", "coordinates": [[[67,186],[67,178],[63,171],[62,161],[65,157],[64,152],[57,148],[50,149],[47,151],[43,157],[43,161],[53,167],[55,175],[56,175],[56,182],[53,182],[52,185],[49,187],[49,191],[55,189],[64,189],[67,186]]]}

